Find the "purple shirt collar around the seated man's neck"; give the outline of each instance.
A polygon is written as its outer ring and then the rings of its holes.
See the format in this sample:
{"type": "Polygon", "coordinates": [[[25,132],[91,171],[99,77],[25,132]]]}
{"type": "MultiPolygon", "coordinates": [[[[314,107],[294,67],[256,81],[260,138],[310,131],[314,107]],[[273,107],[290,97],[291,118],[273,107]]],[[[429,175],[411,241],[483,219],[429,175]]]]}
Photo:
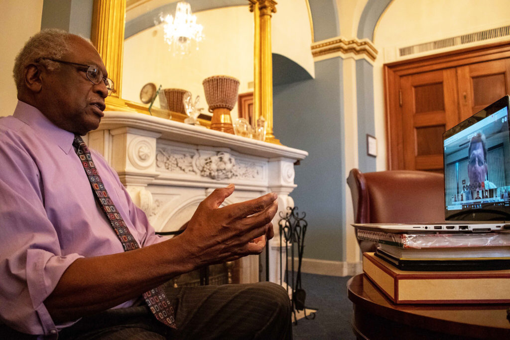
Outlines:
{"type": "Polygon", "coordinates": [[[37,108],[18,100],[13,116],[32,127],[44,139],[53,141],[66,154],[71,151],[74,134],[52,123],[37,108]]]}

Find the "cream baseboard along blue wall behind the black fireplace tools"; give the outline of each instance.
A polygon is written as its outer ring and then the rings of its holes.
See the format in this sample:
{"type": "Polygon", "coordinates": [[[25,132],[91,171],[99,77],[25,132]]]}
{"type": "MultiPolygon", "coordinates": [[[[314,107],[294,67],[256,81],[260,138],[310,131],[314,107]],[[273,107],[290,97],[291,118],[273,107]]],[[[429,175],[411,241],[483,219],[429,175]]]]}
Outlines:
{"type": "MultiPolygon", "coordinates": [[[[289,258],[289,266],[292,259],[289,258]]],[[[298,261],[294,258],[294,269],[297,270],[298,261]]],[[[289,268],[290,270],[290,268],[289,268]]],[[[301,272],[329,276],[354,276],[363,273],[361,262],[330,261],[315,258],[303,258],[301,272]]]]}

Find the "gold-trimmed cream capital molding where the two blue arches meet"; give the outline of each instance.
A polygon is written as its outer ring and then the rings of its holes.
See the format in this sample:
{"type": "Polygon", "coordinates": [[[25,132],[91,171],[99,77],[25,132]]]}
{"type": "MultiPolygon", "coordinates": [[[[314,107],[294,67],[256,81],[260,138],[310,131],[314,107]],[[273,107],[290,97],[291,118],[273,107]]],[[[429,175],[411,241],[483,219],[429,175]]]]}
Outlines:
{"type": "Polygon", "coordinates": [[[314,42],[312,44],[314,61],[342,57],[353,59],[367,59],[373,63],[377,58],[378,51],[369,39],[344,39],[336,37],[314,42]]]}

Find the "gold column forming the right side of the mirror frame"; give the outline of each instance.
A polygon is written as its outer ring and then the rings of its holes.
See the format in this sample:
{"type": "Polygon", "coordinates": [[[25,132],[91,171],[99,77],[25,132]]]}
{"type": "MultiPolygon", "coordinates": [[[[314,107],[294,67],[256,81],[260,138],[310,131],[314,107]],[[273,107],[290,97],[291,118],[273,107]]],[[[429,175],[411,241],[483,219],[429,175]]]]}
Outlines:
{"type": "MultiPolygon", "coordinates": [[[[260,11],[260,109],[266,119],[266,141],[282,144],[273,135],[273,62],[271,51],[271,14],[276,13],[274,0],[258,0],[260,11]]],[[[256,85],[257,86],[257,85],[256,85]]]]}

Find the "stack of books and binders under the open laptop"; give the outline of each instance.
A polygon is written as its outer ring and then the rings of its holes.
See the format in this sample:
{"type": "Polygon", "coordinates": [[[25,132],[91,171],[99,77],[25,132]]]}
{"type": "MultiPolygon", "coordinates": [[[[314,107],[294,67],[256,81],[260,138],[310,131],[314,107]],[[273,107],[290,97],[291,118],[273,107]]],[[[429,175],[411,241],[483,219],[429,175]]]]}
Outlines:
{"type": "Polygon", "coordinates": [[[509,303],[510,234],[390,234],[363,254],[365,275],[394,303],[509,303]]]}

